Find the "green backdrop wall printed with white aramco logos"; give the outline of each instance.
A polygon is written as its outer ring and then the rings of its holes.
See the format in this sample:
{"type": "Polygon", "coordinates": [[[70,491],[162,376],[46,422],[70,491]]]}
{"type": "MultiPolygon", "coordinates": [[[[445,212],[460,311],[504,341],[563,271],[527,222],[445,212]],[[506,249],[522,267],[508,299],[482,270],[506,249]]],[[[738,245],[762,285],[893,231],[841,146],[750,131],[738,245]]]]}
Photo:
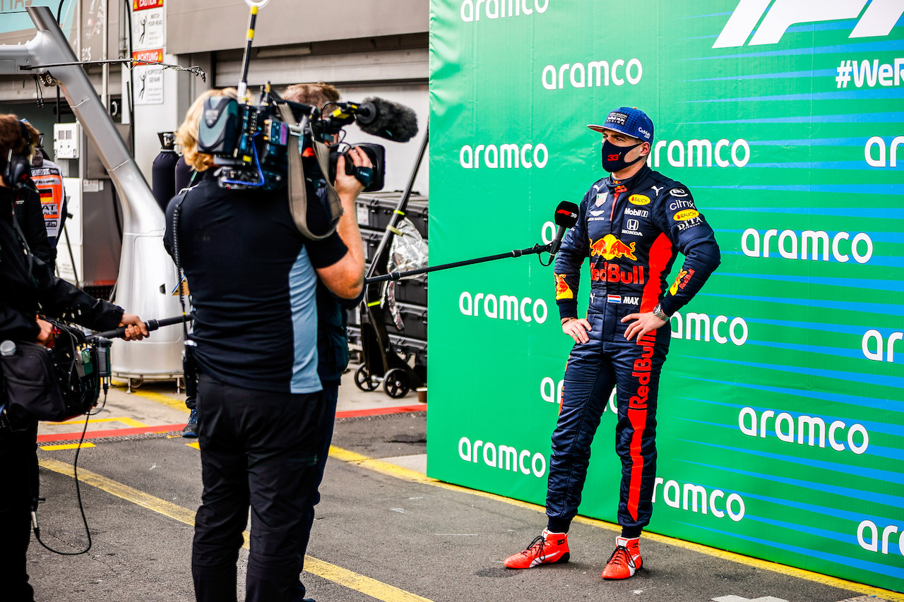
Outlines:
{"type": "MultiPolygon", "coordinates": [[[[902,11],[432,0],[430,23],[432,264],[550,240],[603,175],[586,124],[622,105],[716,230],[722,265],[671,324],[649,529],[898,591],[902,11]]],[[[570,350],[551,268],[438,272],[429,315],[428,475],[543,503],[570,350]]],[[[580,506],[607,521],[614,418],[580,506]]]]}

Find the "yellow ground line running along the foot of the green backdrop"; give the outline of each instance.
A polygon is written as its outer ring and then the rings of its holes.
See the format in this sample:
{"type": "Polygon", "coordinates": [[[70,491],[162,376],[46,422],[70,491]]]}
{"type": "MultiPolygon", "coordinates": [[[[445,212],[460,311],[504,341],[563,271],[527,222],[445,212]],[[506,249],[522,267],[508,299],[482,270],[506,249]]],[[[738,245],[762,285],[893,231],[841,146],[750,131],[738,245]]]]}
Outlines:
{"type": "MultiPolygon", "coordinates": [[[[444,483],[442,481],[438,481],[437,479],[424,475],[423,473],[419,473],[416,470],[403,468],[402,466],[395,466],[394,464],[391,464],[389,462],[383,462],[382,460],[362,456],[361,454],[356,454],[353,451],[342,449],[341,447],[330,446],[330,456],[334,457],[336,460],[340,460],[348,464],[362,466],[363,468],[367,468],[368,470],[372,470],[373,472],[379,473],[381,475],[393,476],[395,478],[399,478],[404,481],[410,481],[412,483],[430,484],[451,491],[463,492],[466,494],[485,497],[497,502],[508,503],[510,505],[517,506],[519,508],[525,508],[527,510],[533,510],[538,513],[546,513],[546,508],[536,503],[522,502],[520,500],[513,500],[512,498],[504,497],[503,495],[488,494],[483,491],[468,489],[467,487],[462,487],[461,485],[444,483]]],[[[621,527],[617,524],[606,521],[599,521],[597,519],[588,518],[586,516],[576,516],[574,518],[574,522],[588,524],[600,529],[606,529],[607,531],[621,532],[621,527]]],[[[754,567],[756,569],[769,570],[782,575],[787,575],[788,577],[805,579],[807,581],[813,581],[814,583],[831,586],[833,588],[850,589],[852,591],[868,596],[880,597],[888,600],[889,602],[904,602],[904,593],[891,591],[890,589],[874,588],[862,583],[856,583],[855,581],[829,577],[828,575],[815,573],[810,570],[796,569],[795,567],[778,564],[777,562],[769,562],[767,560],[751,558],[749,556],[744,556],[743,554],[738,554],[736,552],[718,550],[716,548],[704,546],[699,543],[678,540],[674,539],[673,537],[667,537],[665,535],[652,533],[650,531],[644,531],[644,537],[651,541],[667,543],[669,545],[683,548],[684,550],[699,552],[701,554],[706,554],[708,556],[713,556],[722,560],[730,560],[731,562],[737,562],[738,564],[754,567]]]]}

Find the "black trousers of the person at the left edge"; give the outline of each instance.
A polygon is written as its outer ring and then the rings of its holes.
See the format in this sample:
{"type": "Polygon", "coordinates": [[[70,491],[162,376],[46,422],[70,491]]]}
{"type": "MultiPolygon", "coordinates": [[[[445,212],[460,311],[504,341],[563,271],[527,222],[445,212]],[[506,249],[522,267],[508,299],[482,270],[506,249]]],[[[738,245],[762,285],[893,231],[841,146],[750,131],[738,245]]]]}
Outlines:
{"type": "Polygon", "coordinates": [[[32,602],[25,552],[38,496],[38,423],[25,430],[0,427],[0,588],[8,602],[32,602]]]}

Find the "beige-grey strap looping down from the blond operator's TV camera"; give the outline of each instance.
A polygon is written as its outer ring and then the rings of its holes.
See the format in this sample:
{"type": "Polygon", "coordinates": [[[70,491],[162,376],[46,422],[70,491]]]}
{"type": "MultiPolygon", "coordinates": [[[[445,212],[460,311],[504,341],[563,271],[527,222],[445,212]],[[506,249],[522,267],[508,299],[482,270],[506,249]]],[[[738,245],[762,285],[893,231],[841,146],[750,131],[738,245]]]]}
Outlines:
{"type": "MultiPolygon", "coordinates": [[[[292,113],[292,109],[286,103],[278,103],[277,107],[279,109],[279,115],[286,123],[296,123],[295,115],[292,113]]],[[[333,183],[329,181],[329,178],[324,177],[326,182],[328,199],[329,199],[329,207],[325,208],[329,212],[330,221],[333,224],[333,227],[330,228],[325,234],[315,234],[307,227],[307,187],[305,183],[305,168],[301,163],[301,151],[302,144],[304,143],[304,132],[300,131],[297,128],[289,129],[290,142],[288,144],[288,207],[289,211],[292,213],[292,219],[295,221],[295,225],[302,234],[306,236],[306,238],[311,240],[321,240],[333,234],[335,231],[335,226],[339,221],[339,218],[342,217],[343,209],[342,202],[339,200],[339,193],[336,193],[336,190],[333,186],[333,183]]],[[[320,171],[323,174],[329,174],[329,149],[325,144],[320,142],[313,142],[314,144],[314,153],[317,158],[317,164],[320,165],[320,171]]]]}

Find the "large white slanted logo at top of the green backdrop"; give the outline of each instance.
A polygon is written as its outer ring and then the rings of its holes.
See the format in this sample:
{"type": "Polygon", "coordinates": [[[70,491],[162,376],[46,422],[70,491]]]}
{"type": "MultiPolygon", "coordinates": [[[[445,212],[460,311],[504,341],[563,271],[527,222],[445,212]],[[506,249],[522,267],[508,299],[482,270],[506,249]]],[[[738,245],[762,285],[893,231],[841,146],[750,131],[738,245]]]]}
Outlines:
{"type": "Polygon", "coordinates": [[[743,46],[753,32],[750,46],[777,44],[787,28],[799,23],[841,21],[860,17],[852,38],[888,35],[904,14],[900,0],[872,0],[861,16],[868,0],[740,0],[738,7],[722,28],[713,48],[743,46]],[[770,6],[771,5],[771,6],[770,6]],[[765,17],[763,16],[765,14],[765,17]],[[762,19],[762,22],[760,22],[762,19]],[[759,24],[759,27],[757,27],[759,24]]]}

